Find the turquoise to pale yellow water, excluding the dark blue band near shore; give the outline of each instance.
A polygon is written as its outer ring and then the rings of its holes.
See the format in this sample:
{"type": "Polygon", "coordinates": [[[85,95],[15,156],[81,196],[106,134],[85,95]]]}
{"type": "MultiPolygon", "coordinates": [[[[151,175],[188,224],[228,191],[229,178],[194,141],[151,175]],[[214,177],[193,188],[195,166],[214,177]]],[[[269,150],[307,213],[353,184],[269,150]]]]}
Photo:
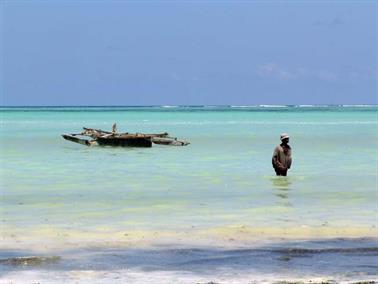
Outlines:
{"type": "Polygon", "coordinates": [[[46,227],[377,226],[378,107],[0,111],[0,208],[7,234],[38,235],[46,227]],[[109,130],[114,122],[119,131],[167,131],[191,144],[89,148],[60,136],[82,126],[109,130]],[[288,178],[276,178],[271,167],[282,132],[290,134],[293,148],[288,178]]]}

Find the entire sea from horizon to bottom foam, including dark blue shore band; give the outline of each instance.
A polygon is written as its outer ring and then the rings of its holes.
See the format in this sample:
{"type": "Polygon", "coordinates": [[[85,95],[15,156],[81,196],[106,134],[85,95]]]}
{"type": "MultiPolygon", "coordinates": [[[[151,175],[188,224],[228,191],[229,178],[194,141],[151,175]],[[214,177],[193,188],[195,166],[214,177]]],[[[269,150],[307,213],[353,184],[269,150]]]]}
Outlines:
{"type": "Polygon", "coordinates": [[[0,114],[1,283],[378,279],[377,106],[0,114]],[[114,122],[191,144],[86,147],[61,137],[114,122]],[[271,166],[282,132],[288,177],[271,166]],[[27,256],[47,260],[11,261],[27,256]]]}

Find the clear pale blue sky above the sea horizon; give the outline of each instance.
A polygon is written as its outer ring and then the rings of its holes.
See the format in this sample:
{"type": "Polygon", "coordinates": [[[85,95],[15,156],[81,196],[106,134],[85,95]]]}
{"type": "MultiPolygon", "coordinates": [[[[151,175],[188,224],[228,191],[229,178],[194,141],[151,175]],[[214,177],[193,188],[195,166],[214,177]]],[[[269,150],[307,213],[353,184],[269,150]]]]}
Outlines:
{"type": "Polygon", "coordinates": [[[2,106],[378,104],[377,1],[0,1],[2,106]]]}

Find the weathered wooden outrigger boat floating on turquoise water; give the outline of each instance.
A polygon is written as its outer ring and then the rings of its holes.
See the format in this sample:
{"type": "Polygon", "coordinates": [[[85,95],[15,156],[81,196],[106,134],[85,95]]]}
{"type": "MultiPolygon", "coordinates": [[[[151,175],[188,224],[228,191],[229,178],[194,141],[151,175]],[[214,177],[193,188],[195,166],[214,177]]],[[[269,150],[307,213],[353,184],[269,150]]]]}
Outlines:
{"type": "Polygon", "coordinates": [[[113,125],[112,132],[83,127],[81,133],[63,134],[62,136],[68,141],[86,146],[152,147],[152,144],[171,146],[186,146],[190,144],[187,141],[179,141],[175,137],[170,137],[167,132],[156,134],[117,133],[116,124],[113,125]],[[83,139],[80,136],[90,137],[92,140],[83,139]]]}

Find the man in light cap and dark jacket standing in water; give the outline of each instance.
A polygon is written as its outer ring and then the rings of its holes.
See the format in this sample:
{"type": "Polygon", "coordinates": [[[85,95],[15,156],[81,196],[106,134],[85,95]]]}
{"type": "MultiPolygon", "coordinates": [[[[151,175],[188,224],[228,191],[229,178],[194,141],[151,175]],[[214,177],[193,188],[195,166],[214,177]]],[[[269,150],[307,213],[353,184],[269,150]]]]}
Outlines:
{"type": "Polygon", "coordinates": [[[289,146],[289,135],[281,134],[281,144],[274,149],[272,164],[278,176],[286,176],[291,166],[291,148],[289,146]]]}

